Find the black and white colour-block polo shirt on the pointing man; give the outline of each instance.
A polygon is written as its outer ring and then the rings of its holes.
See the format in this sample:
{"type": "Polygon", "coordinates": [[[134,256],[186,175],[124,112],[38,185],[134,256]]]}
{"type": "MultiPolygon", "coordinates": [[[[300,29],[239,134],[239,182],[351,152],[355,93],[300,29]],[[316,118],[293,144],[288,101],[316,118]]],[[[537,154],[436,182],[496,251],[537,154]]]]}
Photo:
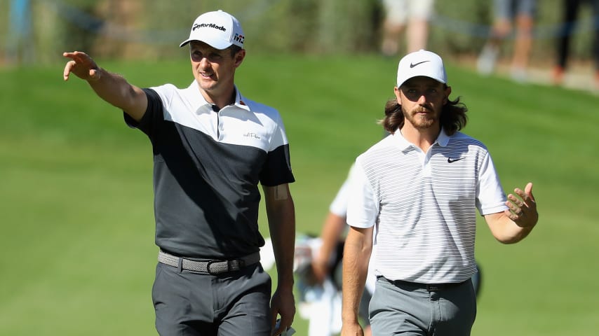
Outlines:
{"type": "Polygon", "coordinates": [[[147,111],[126,123],[154,151],[156,245],[187,258],[236,258],[259,251],[260,190],[295,181],[281,116],[241,96],[214,111],[196,81],[144,89],[147,111]]]}

